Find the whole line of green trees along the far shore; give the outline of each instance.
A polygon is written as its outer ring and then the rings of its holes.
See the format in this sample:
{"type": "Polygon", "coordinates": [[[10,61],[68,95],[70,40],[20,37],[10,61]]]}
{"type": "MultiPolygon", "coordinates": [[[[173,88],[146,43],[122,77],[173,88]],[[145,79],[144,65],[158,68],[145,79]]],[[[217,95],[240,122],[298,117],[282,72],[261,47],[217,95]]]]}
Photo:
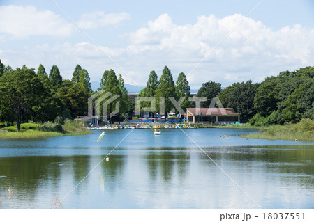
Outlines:
{"type": "MultiPolygon", "coordinates": [[[[281,72],[276,77],[267,77],[261,83],[253,84],[248,80],[224,89],[219,83],[207,81],[196,96],[207,97],[207,101],[201,103],[202,107],[209,107],[213,97],[218,96],[224,107],[241,113],[241,121],[250,122],[251,125],[283,125],[286,122],[299,122],[302,118],[313,120],[313,75],[314,67],[306,67],[281,72]]],[[[86,116],[88,98],[100,90],[119,95],[107,107],[107,113],[112,113],[118,102],[118,120],[124,120],[133,113],[134,101],[128,100],[124,79],[121,74],[117,77],[114,70],[105,70],[100,79],[100,88],[94,92],[91,90],[89,73],[80,65],[76,65],[72,79],[63,79],[57,65],[53,65],[48,74],[41,64],[35,72],[35,69],[27,68],[26,65],[13,70],[0,61],[0,120],[12,124],[17,122],[19,127],[20,122],[28,120],[46,122],[56,118],[86,116]]],[[[151,71],[147,85],[139,96],[156,97],[156,112],[160,107],[159,98],[165,97],[165,116],[175,110],[169,97],[179,101],[184,111],[187,107],[195,106],[195,102],[188,100],[190,86],[186,74],[181,72],[174,82],[167,66],[163,68],[159,79],[156,72],[151,71]]],[[[103,102],[109,99],[107,97],[103,102]]],[[[149,102],[141,102],[140,105],[141,110],[150,106],[149,102]]]]}

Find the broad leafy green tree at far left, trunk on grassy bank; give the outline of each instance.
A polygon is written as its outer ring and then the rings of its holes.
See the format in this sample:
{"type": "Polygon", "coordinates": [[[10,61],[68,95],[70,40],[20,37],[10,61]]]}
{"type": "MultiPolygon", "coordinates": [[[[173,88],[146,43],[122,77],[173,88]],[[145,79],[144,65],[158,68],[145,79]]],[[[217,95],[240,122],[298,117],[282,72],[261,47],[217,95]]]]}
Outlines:
{"type": "Polygon", "coordinates": [[[0,78],[0,97],[2,106],[15,116],[17,132],[20,132],[22,120],[28,120],[29,110],[36,104],[43,84],[33,69],[17,68],[13,72],[4,72],[0,78]]]}

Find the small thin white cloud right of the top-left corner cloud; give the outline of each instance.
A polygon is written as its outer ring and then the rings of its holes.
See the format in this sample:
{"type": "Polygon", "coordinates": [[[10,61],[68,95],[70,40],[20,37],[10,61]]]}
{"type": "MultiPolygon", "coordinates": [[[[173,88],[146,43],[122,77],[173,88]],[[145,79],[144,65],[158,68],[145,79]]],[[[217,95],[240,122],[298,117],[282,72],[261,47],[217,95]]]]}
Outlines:
{"type": "Polygon", "coordinates": [[[81,19],[77,24],[82,29],[95,29],[101,26],[118,24],[126,19],[130,19],[129,13],[105,14],[103,11],[98,11],[81,15],[81,19]]]}

